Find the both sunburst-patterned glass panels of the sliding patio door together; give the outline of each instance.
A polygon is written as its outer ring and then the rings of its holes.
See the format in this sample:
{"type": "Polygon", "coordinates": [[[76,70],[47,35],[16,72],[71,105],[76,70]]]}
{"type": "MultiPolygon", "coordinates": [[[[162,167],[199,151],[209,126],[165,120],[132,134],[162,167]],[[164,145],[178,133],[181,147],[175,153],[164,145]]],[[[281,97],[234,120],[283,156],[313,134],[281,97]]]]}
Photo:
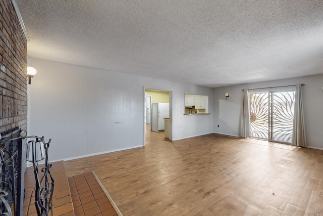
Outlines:
{"type": "Polygon", "coordinates": [[[249,93],[251,138],[291,143],[295,91],[249,93]]]}

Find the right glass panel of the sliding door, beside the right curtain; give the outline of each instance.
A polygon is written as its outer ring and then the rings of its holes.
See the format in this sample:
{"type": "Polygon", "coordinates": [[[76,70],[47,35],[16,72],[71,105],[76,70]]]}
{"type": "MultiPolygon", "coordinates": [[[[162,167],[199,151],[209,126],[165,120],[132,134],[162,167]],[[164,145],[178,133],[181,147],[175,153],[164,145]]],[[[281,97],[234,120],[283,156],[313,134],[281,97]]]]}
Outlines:
{"type": "Polygon", "coordinates": [[[295,91],[273,93],[273,141],[291,143],[295,91]]]}

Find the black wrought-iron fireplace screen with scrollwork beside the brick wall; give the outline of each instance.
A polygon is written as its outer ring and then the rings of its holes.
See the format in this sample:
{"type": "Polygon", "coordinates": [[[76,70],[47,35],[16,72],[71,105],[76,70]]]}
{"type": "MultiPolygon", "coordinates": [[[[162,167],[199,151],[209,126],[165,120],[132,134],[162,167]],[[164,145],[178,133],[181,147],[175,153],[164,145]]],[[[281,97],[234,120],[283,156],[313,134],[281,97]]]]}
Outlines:
{"type": "Polygon", "coordinates": [[[48,164],[49,143],[43,137],[26,136],[18,127],[1,134],[0,137],[0,215],[11,216],[11,205],[15,216],[23,215],[25,161],[30,161],[35,175],[35,206],[38,215],[47,215],[51,210],[54,180],[48,164]],[[27,144],[27,152],[25,146],[27,144]],[[26,158],[27,153],[27,158],[26,158]],[[38,170],[38,161],[45,165],[38,170]],[[41,177],[39,178],[39,175],[41,177]]]}

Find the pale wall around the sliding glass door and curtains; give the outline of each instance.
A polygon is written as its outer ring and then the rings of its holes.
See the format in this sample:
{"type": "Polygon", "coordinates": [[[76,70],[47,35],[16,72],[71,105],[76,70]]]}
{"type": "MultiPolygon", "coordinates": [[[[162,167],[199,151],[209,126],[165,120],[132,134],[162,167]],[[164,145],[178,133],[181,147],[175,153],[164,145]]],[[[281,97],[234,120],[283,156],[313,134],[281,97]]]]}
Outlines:
{"type": "Polygon", "coordinates": [[[302,91],[307,145],[310,148],[323,149],[323,74],[213,89],[213,131],[219,134],[240,136],[243,89],[277,87],[296,83],[305,84],[302,91]],[[225,93],[230,94],[228,100],[224,96],[225,93]]]}

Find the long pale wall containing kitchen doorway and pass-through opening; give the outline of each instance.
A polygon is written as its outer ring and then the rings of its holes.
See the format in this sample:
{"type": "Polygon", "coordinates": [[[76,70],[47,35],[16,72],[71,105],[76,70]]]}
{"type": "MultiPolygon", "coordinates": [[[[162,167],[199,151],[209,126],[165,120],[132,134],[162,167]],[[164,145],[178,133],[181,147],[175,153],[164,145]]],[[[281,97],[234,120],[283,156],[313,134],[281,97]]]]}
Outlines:
{"type": "Polygon", "coordinates": [[[49,160],[77,158],[143,145],[144,88],[172,91],[173,140],[212,133],[213,114],[184,113],[184,92],[208,96],[197,85],[29,59],[37,74],[28,86],[28,134],[52,138],[49,160]]]}

